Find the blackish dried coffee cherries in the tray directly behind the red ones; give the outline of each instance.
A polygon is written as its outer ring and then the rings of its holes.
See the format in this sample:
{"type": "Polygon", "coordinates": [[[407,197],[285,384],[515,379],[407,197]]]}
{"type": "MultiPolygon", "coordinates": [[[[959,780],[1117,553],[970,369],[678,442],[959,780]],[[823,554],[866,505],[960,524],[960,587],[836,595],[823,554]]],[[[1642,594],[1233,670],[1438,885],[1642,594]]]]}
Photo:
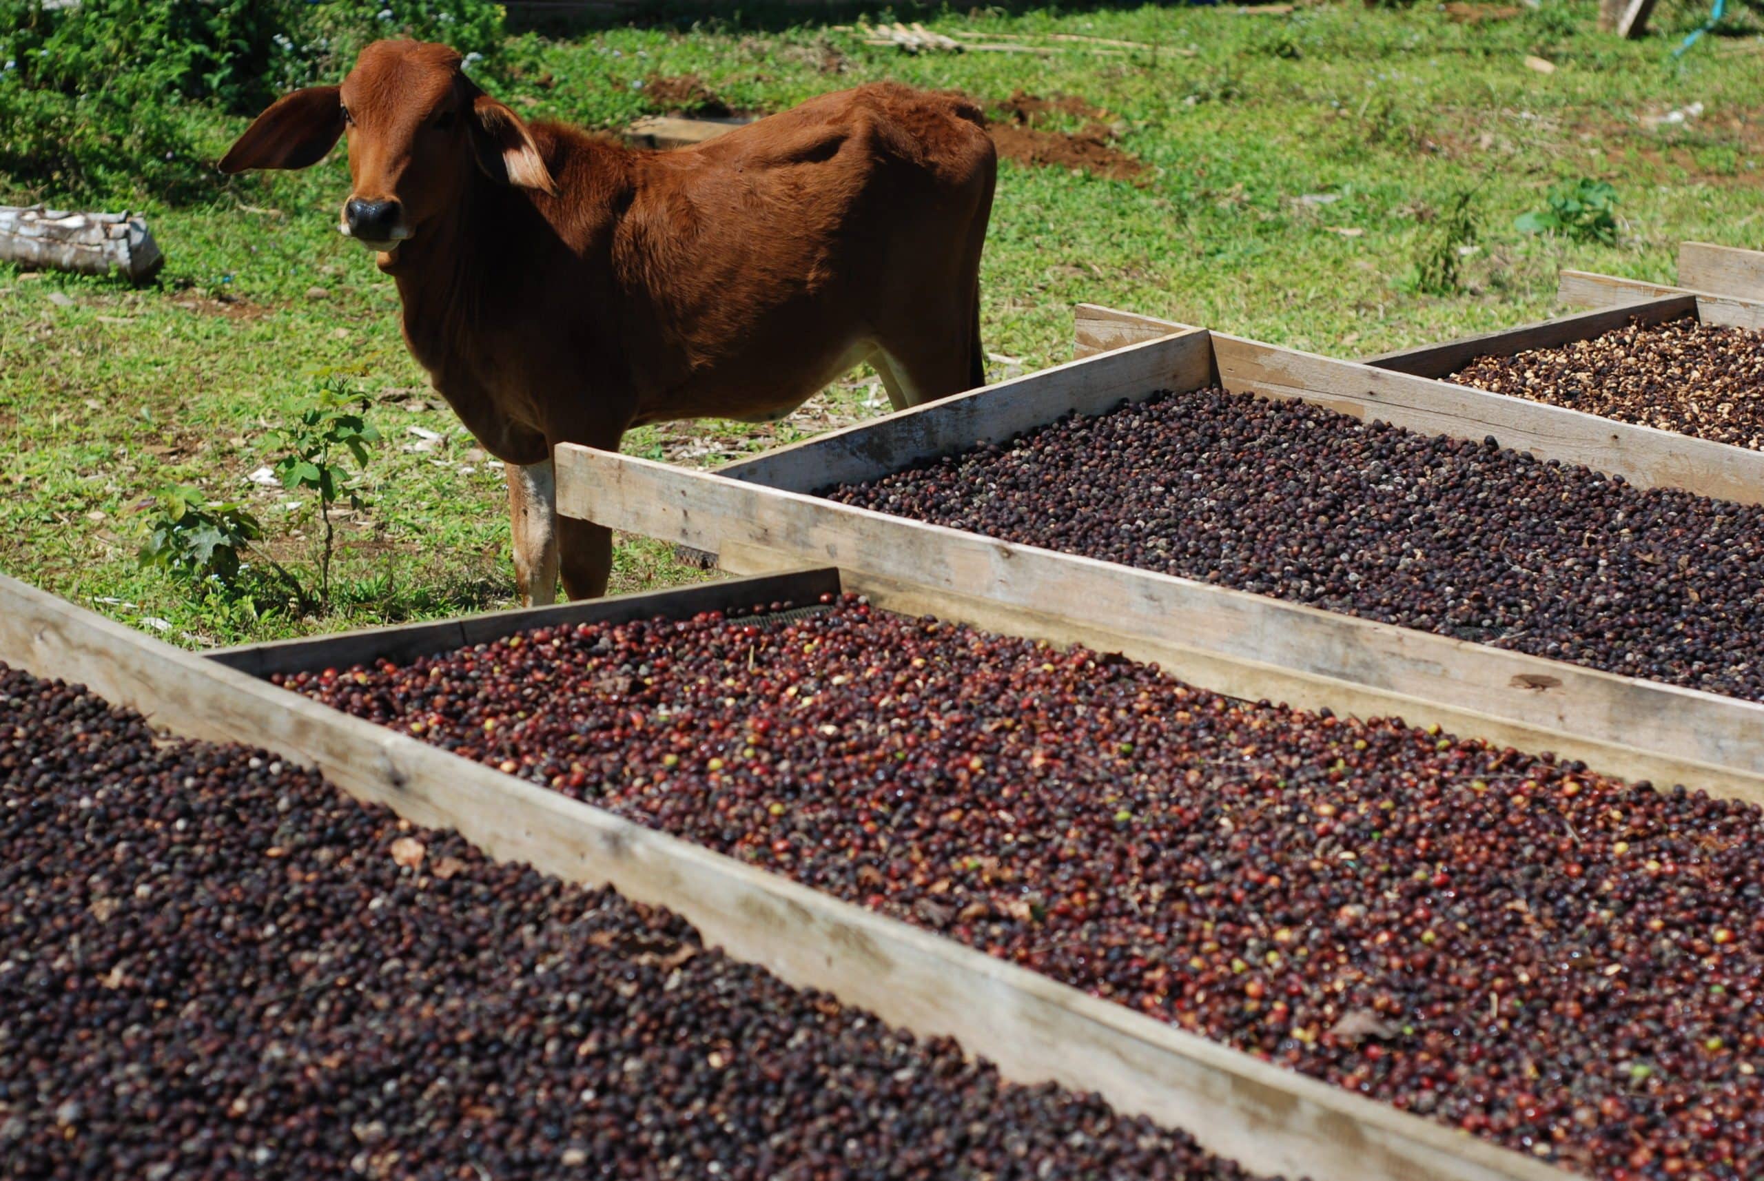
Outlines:
{"type": "Polygon", "coordinates": [[[834,501],[1764,700],[1764,508],[1201,390],[834,501]]]}

